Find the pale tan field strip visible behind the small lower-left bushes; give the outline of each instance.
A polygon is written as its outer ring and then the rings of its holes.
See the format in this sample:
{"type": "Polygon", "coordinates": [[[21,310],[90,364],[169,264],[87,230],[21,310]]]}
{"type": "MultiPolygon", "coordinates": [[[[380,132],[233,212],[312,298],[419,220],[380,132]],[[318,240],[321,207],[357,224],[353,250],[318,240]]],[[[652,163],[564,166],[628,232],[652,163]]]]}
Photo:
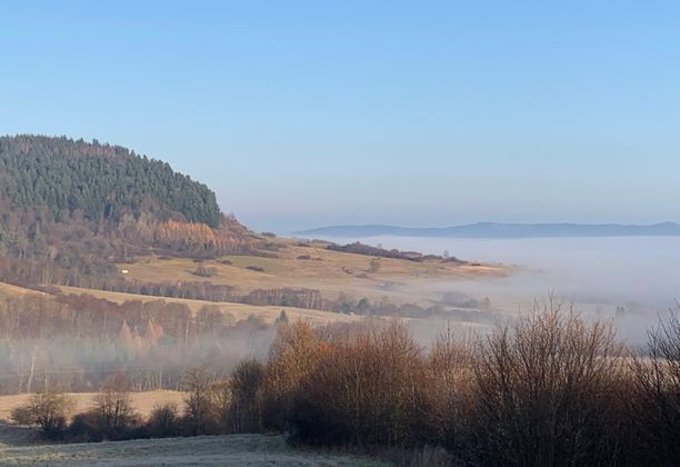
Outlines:
{"type": "MultiPolygon", "coordinates": [[[[73,399],[73,415],[89,410],[93,405],[96,393],[71,393],[69,396],[73,399]]],[[[148,417],[149,413],[158,404],[176,403],[178,407],[182,407],[183,393],[173,390],[153,390],[147,393],[131,393],[130,399],[132,407],[142,417],[148,417]]],[[[9,420],[12,409],[26,405],[31,398],[30,394],[14,394],[10,396],[0,396],[0,420],[9,420]]]]}

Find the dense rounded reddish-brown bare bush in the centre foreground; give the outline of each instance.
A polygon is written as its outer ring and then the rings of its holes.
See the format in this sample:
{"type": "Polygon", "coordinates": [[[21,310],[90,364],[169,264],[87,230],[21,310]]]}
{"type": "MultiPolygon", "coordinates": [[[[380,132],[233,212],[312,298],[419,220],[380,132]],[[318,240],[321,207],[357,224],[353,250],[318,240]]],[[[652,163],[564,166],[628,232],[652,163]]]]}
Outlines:
{"type": "Polygon", "coordinates": [[[419,439],[421,351],[398,321],[334,337],[294,398],[293,438],[314,445],[394,446],[419,439]]]}

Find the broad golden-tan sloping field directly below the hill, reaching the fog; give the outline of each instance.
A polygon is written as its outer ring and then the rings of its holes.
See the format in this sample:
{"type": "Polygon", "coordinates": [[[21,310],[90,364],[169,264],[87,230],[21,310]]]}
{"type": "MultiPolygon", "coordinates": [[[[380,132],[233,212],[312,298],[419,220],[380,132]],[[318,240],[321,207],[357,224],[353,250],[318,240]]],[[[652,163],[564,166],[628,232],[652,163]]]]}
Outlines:
{"type": "Polygon", "coordinates": [[[192,272],[197,264],[187,258],[140,257],[132,265],[119,265],[126,269],[127,280],[148,282],[190,282],[209,280],[212,284],[234,287],[236,294],[254,289],[309,288],[320,290],[327,299],[348,294],[357,299],[388,298],[391,302],[431,305],[431,299],[442,287],[460,280],[493,278],[508,274],[498,265],[446,262],[426,260],[379,258],[327,250],[324,242],[309,246],[292,239],[277,239],[281,245],[277,258],[257,256],[226,256],[204,261],[214,275],[202,279],[192,272]],[[224,261],[231,264],[224,264],[224,261]],[[248,269],[249,266],[263,271],[248,269]]]}

